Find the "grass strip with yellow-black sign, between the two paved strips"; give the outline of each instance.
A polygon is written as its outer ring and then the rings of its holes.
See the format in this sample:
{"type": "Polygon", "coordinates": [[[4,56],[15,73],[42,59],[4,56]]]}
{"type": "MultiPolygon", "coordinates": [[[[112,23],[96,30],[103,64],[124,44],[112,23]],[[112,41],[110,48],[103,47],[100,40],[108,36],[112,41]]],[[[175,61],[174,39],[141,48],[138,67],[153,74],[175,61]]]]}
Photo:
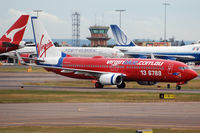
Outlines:
{"type": "Polygon", "coordinates": [[[163,100],[159,93],[145,92],[77,92],[52,90],[0,90],[0,103],[67,103],[67,102],[194,102],[200,94],[175,94],[176,98],[163,100]]]}

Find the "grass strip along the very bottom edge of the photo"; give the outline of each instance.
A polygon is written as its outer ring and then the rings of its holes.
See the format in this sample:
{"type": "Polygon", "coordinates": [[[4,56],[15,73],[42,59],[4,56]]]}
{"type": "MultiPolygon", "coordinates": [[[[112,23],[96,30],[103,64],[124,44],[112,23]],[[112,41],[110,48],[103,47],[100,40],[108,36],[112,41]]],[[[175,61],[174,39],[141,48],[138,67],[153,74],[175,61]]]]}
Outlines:
{"type": "MultiPolygon", "coordinates": [[[[0,127],[1,133],[135,133],[132,128],[80,126],[15,126],[0,127]]],[[[154,133],[199,133],[200,130],[153,129],[154,133]]]]}

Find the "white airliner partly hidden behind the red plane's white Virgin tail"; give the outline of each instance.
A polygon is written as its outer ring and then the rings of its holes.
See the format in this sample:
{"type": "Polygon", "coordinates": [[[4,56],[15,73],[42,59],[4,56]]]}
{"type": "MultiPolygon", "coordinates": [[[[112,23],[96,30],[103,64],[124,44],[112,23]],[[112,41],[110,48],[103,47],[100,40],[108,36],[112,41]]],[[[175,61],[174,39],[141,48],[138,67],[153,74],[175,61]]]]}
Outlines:
{"type": "MultiPolygon", "coordinates": [[[[104,56],[109,58],[121,58],[124,57],[124,53],[122,53],[118,49],[108,48],[108,47],[56,47],[61,52],[67,53],[73,57],[93,57],[93,56],[104,56]]],[[[32,58],[36,56],[35,47],[24,47],[22,49],[18,49],[17,52],[21,57],[24,58],[32,58]]],[[[15,51],[11,51],[8,53],[0,54],[4,56],[9,56],[12,58],[17,58],[15,51]]]]}

